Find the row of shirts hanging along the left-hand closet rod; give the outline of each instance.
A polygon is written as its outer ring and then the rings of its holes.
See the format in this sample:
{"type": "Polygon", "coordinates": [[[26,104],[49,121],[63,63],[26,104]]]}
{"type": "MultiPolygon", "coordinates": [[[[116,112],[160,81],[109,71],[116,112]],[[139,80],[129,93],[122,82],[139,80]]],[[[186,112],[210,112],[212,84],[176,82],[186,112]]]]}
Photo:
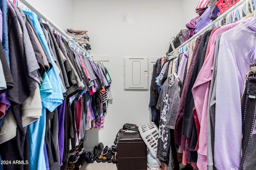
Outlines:
{"type": "Polygon", "coordinates": [[[108,70],[70,48],[33,12],[6,0],[0,9],[0,159],[28,160],[30,169],[67,169],[69,152],[86,130],[104,128],[108,70]]]}

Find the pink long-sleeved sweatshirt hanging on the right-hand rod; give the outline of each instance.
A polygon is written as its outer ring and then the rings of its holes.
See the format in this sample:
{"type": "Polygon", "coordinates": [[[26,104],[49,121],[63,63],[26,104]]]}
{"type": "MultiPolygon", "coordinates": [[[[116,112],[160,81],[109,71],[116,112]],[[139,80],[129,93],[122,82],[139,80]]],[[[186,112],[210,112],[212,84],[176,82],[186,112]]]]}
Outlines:
{"type": "Polygon", "coordinates": [[[232,27],[238,25],[239,22],[232,23],[222,28],[216,28],[211,35],[210,51],[204,61],[204,64],[196,78],[196,82],[192,88],[196,112],[200,123],[199,148],[197,166],[200,170],[207,170],[207,111],[210,82],[212,80],[212,70],[214,64],[214,51],[217,35],[224,33],[232,27]]]}

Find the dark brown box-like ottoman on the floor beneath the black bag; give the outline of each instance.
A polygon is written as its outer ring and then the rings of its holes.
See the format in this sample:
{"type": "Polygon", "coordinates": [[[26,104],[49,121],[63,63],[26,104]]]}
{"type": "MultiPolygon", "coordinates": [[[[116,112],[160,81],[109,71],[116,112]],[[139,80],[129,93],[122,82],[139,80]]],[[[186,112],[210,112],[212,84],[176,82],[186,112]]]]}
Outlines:
{"type": "Polygon", "coordinates": [[[117,167],[118,170],[147,170],[147,146],[139,132],[119,134],[117,167]]]}

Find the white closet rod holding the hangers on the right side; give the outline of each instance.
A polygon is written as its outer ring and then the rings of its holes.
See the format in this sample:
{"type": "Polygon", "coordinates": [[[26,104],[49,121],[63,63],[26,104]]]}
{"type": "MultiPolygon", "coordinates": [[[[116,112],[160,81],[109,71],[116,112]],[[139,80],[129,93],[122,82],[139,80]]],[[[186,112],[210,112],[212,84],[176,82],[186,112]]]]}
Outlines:
{"type": "MultiPolygon", "coordinates": [[[[235,10],[236,7],[240,6],[243,2],[245,2],[246,0],[240,0],[237,4],[235,4],[234,6],[232,6],[230,9],[228,9],[226,12],[224,12],[222,15],[220,15],[218,18],[216,18],[214,21],[212,21],[211,23],[209,23],[206,27],[204,27],[204,29],[202,29],[201,31],[199,31],[198,33],[196,33],[195,35],[193,35],[190,39],[188,39],[186,42],[182,43],[182,45],[180,45],[179,47],[176,48],[176,50],[180,49],[181,47],[187,45],[188,43],[190,43],[190,41],[192,41],[193,39],[195,39],[196,37],[198,37],[198,35],[201,35],[202,33],[204,33],[204,31],[208,30],[210,27],[212,27],[216,22],[218,22],[219,20],[221,20],[222,18],[224,18],[225,16],[228,15],[229,12],[231,12],[232,10],[235,10]]],[[[172,41],[169,41],[168,43],[171,43],[172,41]]],[[[172,55],[174,53],[174,51],[170,52],[169,55],[172,55]]]]}

